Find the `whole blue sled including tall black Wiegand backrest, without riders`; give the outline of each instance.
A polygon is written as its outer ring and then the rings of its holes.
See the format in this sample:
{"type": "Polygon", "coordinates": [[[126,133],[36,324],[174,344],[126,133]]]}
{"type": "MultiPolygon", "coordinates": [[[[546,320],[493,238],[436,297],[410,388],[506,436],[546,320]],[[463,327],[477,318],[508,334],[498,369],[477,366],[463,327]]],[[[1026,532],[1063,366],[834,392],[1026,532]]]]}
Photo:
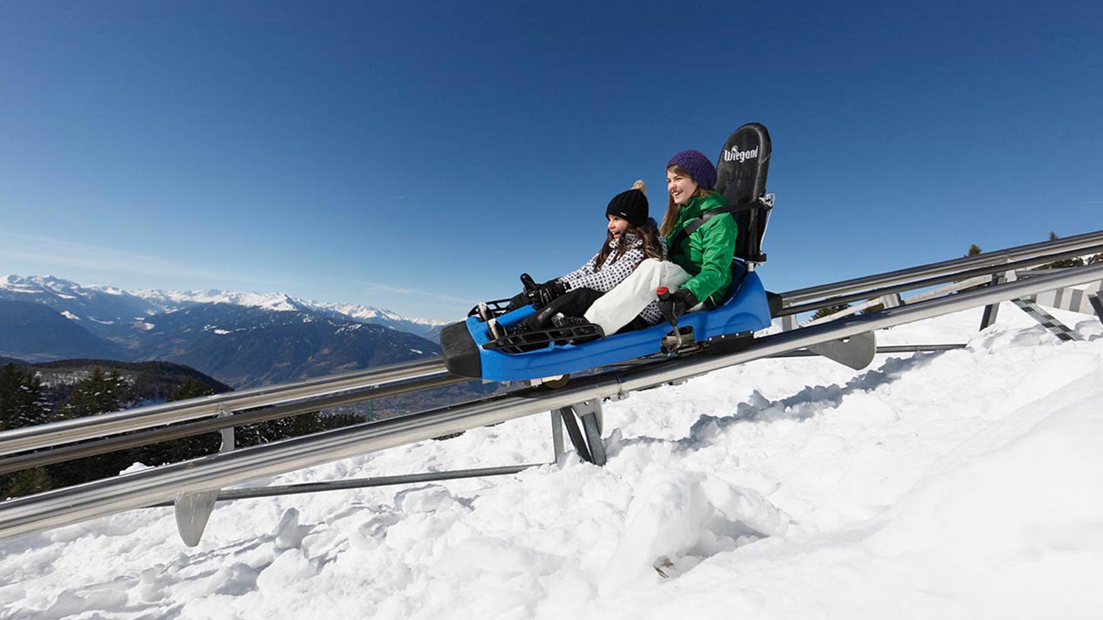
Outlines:
{"type": "Polygon", "coordinates": [[[526,306],[506,312],[508,300],[491,301],[482,311],[472,309],[467,321],[453,323],[441,332],[448,371],[488,381],[525,381],[662,353],[730,351],[749,345],[756,330],[770,325],[771,304],[774,311],[780,307],[780,299],[767,293],[754,271],[767,258],[762,237],[773,207],[773,194],[765,194],[769,167],[770,135],[762,125],[743,125],[725,142],[716,167],[716,190],[724,194],[729,206],[705,213],[686,226],[686,234],[708,217],[731,213],[739,226],[731,286],[722,298],[713,300],[715,303],[707,302],[707,310],[678,318],[676,330],[668,323],[660,323],[604,335],[599,327],[587,323],[494,338],[486,319],[492,318],[508,330],[535,309],[526,306]]]}

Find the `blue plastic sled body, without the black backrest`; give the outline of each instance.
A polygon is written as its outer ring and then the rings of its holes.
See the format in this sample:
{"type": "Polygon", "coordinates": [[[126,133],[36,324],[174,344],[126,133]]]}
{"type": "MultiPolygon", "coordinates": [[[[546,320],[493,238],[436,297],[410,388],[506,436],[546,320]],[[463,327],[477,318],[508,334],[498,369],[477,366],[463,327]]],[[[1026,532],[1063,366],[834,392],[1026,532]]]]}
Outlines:
{"type": "MultiPolygon", "coordinates": [[[[526,306],[497,320],[510,328],[533,312],[533,307],[526,306]]],[[[769,325],[770,306],[754,271],[742,277],[736,293],[722,306],[678,318],[678,327],[692,327],[697,342],[769,325]]],[[[653,355],[662,351],[663,336],[671,331],[668,323],[660,323],[581,344],[548,344],[536,351],[504,353],[483,348],[493,340],[486,323],[479,317],[469,317],[465,322],[445,328],[440,340],[450,373],[505,382],[553,377],[653,355]]]]}

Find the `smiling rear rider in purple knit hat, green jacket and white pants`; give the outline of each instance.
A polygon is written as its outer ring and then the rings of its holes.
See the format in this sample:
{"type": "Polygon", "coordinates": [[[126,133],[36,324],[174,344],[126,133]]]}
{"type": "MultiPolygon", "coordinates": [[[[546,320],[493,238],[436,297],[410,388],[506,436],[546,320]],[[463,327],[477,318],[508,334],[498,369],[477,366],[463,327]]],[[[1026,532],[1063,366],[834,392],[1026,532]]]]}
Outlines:
{"type": "Polygon", "coordinates": [[[694,150],[674,153],[666,163],[670,202],[660,227],[668,260],[640,263],[631,276],[590,306],[583,316],[587,322],[600,325],[606,334],[617,333],[657,299],[660,287],[674,291],[667,303],[675,317],[700,310],[710,297],[719,301],[727,293],[738,234],[731,214],[716,215],[693,233],[681,234],[705,212],[728,204],[715,186],[716,167],[708,157],[694,150]]]}

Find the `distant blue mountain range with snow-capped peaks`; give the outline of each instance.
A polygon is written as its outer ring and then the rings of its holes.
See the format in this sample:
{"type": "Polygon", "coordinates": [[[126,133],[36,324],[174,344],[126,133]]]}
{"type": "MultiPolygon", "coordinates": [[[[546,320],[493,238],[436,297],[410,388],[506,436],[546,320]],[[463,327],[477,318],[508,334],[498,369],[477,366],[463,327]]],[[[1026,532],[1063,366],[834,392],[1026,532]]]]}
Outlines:
{"type": "Polygon", "coordinates": [[[163,360],[234,387],[440,354],[439,321],[283,293],[127,291],[52,276],[0,278],[0,355],[163,360]]]}

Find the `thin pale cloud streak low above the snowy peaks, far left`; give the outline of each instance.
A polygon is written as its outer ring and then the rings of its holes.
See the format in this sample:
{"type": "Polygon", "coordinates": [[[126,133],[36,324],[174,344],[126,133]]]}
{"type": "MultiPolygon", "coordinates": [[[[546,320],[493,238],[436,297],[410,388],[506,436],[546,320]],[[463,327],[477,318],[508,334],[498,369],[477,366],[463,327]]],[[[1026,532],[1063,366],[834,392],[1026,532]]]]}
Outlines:
{"type": "Polygon", "coordinates": [[[286,280],[266,280],[253,276],[248,278],[236,277],[225,271],[200,269],[164,260],[156,256],[11,231],[0,229],[0,239],[3,239],[3,243],[0,243],[0,257],[43,265],[96,269],[114,274],[138,274],[143,276],[195,278],[215,281],[228,278],[249,282],[263,281],[281,286],[291,285],[291,282],[286,280]]]}

